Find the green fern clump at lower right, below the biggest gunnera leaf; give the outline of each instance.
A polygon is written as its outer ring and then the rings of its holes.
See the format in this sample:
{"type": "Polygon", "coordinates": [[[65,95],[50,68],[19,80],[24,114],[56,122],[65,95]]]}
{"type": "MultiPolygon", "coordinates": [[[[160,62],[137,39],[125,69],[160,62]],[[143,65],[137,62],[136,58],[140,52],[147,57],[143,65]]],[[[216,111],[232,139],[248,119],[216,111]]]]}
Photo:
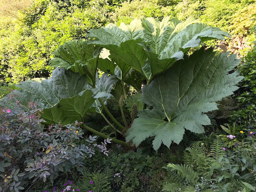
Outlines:
{"type": "Polygon", "coordinates": [[[212,144],[210,152],[203,142],[195,142],[184,152],[184,165],[168,164],[165,168],[169,174],[169,180],[163,186],[165,191],[176,191],[177,186],[182,186],[178,190],[181,192],[205,191],[212,192],[210,184],[205,186],[205,181],[209,181],[215,169],[222,168],[218,162],[220,157],[225,156],[222,149],[223,144],[217,136],[212,144]],[[202,177],[201,177],[202,176],[202,177]],[[201,177],[201,182],[199,178],[201,177]]]}

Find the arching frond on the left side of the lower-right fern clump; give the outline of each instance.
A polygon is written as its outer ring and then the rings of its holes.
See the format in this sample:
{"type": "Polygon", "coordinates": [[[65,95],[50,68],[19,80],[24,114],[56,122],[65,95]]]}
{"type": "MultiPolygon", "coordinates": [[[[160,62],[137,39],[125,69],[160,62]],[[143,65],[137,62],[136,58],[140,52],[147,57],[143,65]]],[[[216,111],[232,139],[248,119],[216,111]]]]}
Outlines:
{"type": "Polygon", "coordinates": [[[183,179],[188,180],[190,184],[195,184],[199,179],[199,174],[188,165],[176,165],[169,163],[167,167],[169,167],[171,172],[177,171],[178,175],[183,179]]]}

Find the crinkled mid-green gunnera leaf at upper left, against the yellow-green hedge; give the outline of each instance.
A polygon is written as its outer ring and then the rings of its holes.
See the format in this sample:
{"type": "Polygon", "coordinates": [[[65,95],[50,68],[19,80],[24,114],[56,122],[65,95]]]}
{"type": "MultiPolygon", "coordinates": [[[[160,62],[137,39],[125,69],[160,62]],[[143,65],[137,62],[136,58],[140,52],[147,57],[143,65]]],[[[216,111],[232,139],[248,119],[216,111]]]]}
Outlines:
{"type": "Polygon", "coordinates": [[[86,74],[88,83],[95,86],[98,68],[114,74],[116,66],[108,58],[100,58],[101,51],[102,48],[87,44],[87,40],[72,40],[53,52],[54,58],[50,60],[50,64],[54,68],[62,67],[79,73],[80,76],[86,74]]]}

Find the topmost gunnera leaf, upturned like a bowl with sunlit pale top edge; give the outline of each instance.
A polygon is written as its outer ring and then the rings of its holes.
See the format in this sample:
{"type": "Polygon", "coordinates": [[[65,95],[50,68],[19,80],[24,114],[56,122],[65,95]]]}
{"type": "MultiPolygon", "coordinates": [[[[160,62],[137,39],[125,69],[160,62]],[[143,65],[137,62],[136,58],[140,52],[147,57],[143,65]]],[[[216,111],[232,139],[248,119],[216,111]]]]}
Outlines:
{"type": "Polygon", "coordinates": [[[88,44],[110,50],[109,58],[122,70],[123,77],[132,67],[151,81],[182,59],[189,48],[199,46],[202,41],[224,39],[228,34],[192,18],[180,22],[165,17],[161,22],[143,18],[119,27],[108,24],[89,30],[88,36],[91,37],[88,44]]]}

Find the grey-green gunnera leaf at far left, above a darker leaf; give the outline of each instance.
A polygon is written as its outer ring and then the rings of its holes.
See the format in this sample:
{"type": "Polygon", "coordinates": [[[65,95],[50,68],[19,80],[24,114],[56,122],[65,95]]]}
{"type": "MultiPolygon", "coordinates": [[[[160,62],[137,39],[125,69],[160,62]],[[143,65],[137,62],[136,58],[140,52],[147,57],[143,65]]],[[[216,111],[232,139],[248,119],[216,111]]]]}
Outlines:
{"type": "Polygon", "coordinates": [[[20,104],[27,106],[31,100],[37,102],[38,108],[49,108],[64,98],[72,98],[87,87],[86,75],[80,76],[64,68],[56,68],[52,77],[41,82],[24,81],[16,86],[14,96],[20,104]]]}

